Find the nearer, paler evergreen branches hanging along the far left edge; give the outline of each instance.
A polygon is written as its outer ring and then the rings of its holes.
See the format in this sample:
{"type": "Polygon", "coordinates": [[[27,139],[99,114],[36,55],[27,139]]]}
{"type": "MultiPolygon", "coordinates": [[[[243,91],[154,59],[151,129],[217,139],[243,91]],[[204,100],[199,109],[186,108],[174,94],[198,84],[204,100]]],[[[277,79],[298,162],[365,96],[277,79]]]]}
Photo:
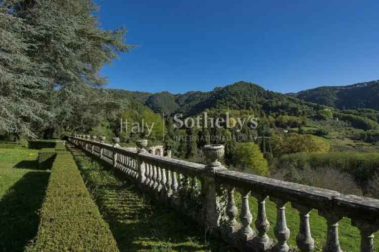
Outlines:
{"type": "Polygon", "coordinates": [[[0,1],[0,134],[35,137],[30,123],[43,125],[53,114],[41,102],[49,87],[46,65],[31,57],[29,36],[37,30],[17,17],[13,2],[0,1]]]}

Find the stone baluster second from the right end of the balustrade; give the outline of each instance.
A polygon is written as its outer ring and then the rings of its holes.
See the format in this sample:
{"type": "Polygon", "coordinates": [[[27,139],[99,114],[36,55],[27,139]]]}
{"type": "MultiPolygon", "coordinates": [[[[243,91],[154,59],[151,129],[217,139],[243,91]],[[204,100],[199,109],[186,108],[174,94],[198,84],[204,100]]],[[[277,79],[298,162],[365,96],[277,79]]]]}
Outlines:
{"type": "Polygon", "coordinates": [[[327,224],[326,244],[322,248],[323,252],[342,252],[340,240],[338,237],[338,222],[343,217],[328,212],[327,210],[319,210],[318,214],[323,216],[327,224]]]}

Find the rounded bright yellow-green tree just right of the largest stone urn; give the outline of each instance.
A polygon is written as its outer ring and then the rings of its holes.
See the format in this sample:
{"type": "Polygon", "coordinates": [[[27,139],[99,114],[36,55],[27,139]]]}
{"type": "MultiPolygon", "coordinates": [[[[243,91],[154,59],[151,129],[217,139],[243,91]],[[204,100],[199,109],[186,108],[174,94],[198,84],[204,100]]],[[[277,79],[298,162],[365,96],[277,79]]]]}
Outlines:
{"type": "Polygon", "coordinates": [[[240,171],[258,175],[266,175],[268,172],[267,160],[254,143],[239,143],[234,149],[233,157],[233,164],[240,171]]]}

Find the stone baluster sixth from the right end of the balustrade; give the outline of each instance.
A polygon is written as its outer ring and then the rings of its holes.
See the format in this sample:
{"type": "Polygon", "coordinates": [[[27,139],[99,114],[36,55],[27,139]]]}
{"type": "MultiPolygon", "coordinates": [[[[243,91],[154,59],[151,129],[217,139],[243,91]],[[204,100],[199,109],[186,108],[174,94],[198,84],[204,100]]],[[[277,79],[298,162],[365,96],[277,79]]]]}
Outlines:
{"type": "Polygon", "coordinates": [[[253,215],[250,213],[249,208],[249,194],[250,191],[246,189],[239,189],[242,197],[242,206],[241,206],[241,222],[242,227],[239,230],[239,234],[244,241],[248,241],[254,238],[255,231],[251,228],[250,223],[253,220],[253,215]]]}

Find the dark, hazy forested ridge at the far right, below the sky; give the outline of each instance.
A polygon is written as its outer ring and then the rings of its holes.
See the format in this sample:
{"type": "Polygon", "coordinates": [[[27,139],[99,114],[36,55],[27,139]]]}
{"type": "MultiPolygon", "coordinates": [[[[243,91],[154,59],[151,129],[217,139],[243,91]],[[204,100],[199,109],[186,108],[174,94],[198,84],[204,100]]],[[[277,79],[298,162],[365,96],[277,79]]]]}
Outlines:
{"type": "Polygon", "coordinates": [[[379,110],[379,80],[349,86],[308,89],[294,97],[339,109],[372,108],[379,110]]]}

